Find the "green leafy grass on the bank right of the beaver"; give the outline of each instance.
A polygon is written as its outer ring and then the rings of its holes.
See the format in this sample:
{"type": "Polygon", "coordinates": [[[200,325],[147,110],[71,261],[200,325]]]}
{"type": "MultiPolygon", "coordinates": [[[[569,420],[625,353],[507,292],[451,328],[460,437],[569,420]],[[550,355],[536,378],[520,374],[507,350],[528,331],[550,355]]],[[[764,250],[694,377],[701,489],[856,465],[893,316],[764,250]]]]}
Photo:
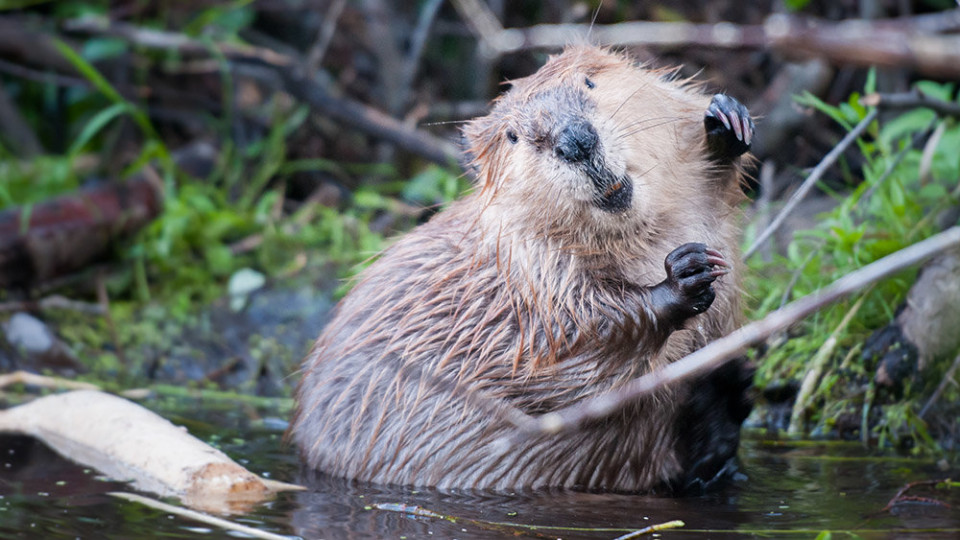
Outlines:
{"type": "MultiPolygon", "coordinates": [[[[874,91],[873,80],[868,80],[865,93],[874,91]]],[[[917,87],[946,100],[955,92],[952,84],[921,82],[917,87]]],[[[812,95],[801,96],[798,101],[849,130],[868,112],[859,98],[854,94],[838,106],[812,95]]],[[[834,195],[836,208],[820,216],[813,229],[799,231],[785,256],[775,256],[769,263],[759,257],[750,261],[746,290],[753,292],[751,318],[761,318],[778,308],[784,298],[789,301],[809,294],[930,236],[937,230],[936,216],[958,204],[960,155],[956,149],[960,148],[960,125],[956,119],[937,118],[927,109],[908,110],[882,123],[874,122],[857,144],[865,165],[861,170],[844,169],[849,186],[834,195]],[[942,135],[935,147],[911,146],[917,134],[936,129],[942,135]],[[795,285],[788,288],[792,280],[795,285]]],[[[858,348],[893,318],[915,273],[916,269],[903,272],[862,293],[866,295],[864,305],[841,332],[840,346],[813,396],[815,410],[809,424],[813,432],[831,433],[841,415],[869,415],[871,406],[880,405],[871,402],[876,397],[869,384],[875,366],[871,360],[861,359],[858,348]]],[[[802,379],[807,362],[857,300],[850,298],[809,317],[791,331],[788,340],[768,350],[759,358],[758,386],[802,379]]],[[[941,359],[908,386],[901,400],[881,407],[879,421],[871,422],[872,435],[881,443],[897,443],[907,437],[919,443],[916,451],[933,449],[927,426],[916,412],[929,395],[930,384],[939,380],[950,361],[952,358],[941,359]]],[[[952,396],[941,399],[956,399],[956,390],[951,392],[952,396]]]]}

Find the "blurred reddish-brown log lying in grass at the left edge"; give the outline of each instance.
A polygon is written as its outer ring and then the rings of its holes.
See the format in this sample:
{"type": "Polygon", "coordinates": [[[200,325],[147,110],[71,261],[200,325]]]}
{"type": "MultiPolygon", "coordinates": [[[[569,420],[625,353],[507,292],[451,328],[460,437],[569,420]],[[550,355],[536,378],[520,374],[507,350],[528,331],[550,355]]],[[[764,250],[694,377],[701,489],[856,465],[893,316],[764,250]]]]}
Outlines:
{"type": "Polygon", "coordinates": [[[0,287],[28,287],[83,268],[159,215],[161,194],[147,176],[0,213],[0,287]]]}

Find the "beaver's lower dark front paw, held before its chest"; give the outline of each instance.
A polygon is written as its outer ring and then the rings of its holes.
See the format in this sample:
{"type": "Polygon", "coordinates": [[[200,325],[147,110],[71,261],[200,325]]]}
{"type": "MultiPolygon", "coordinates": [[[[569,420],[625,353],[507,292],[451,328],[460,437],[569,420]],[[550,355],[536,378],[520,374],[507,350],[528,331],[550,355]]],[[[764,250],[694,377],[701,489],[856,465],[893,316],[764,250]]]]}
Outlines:
{"type": "Polygon", "coordinates": [[[687,318],[703,313],[713,303],[713,282],[730,271],[718,251],[704,244],[684,244],[663,261],[667,279],[662,285],[672,290],[675,315],[687,318]]]}

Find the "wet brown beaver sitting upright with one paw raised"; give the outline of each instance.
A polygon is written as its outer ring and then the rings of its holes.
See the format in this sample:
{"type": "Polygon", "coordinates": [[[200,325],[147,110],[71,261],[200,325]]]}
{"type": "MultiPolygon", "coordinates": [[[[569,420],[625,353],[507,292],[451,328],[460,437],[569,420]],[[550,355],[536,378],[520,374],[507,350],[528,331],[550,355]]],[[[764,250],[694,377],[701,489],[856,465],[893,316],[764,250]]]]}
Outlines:
{"type": "Polygon", "coordinates": [[[503,409],[577,403],[738,326],[753,130],[736,100],[604,48],[512,81],[463,130],[474,191],[364,270],[305,358],[303,460],[441,489],[709,481],[749,410],[742,364],[578,431],[495,442],[503,409]]]}

